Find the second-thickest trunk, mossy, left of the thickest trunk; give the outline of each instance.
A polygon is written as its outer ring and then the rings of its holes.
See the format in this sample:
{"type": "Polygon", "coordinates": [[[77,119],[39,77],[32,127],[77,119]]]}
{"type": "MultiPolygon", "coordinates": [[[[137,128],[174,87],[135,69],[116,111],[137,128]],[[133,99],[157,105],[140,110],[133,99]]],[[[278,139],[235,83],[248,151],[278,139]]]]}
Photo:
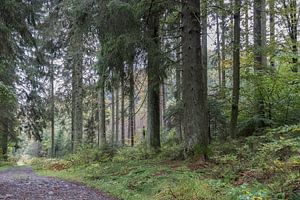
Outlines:
{"type": "Polygon", "coordinates": [[[160,150],[160,39],[159,15],[151,16],[149,31],[152,43],[148,47],[148,144],[155,151],[160,150]]]}

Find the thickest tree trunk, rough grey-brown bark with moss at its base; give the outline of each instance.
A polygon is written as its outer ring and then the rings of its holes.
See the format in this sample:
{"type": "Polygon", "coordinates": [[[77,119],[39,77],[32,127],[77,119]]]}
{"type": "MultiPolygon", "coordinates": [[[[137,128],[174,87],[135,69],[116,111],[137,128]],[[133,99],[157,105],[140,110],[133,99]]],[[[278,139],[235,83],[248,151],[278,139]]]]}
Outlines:
{"type": "Polygon", "coordinates": [[[202,64],[200,41],[200,2],[186,0],[182,7],[183,50],[183,129],[186,156],[200,146],[203,158],[208,152],[208,106],[206,69],[202,64]]]}

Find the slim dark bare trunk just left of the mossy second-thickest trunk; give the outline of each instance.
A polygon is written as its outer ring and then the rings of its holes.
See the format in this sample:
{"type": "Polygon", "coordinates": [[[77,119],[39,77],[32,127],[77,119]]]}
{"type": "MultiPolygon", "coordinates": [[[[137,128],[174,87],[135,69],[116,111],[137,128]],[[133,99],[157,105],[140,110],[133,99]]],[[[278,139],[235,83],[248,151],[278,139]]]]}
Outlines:
{"type": "Polygon", "coordinates": [[[129,120],[129,134],[130,135],[130,144],[131,146],[134,146],[134,115],[135,115],[135,109],[134,109],[134,66],[133,66],[133,63],[134,63],[134,58],[132,58],[130,64],[129,64],[129,117],[128,117],[128,120],[129,120]]]}

